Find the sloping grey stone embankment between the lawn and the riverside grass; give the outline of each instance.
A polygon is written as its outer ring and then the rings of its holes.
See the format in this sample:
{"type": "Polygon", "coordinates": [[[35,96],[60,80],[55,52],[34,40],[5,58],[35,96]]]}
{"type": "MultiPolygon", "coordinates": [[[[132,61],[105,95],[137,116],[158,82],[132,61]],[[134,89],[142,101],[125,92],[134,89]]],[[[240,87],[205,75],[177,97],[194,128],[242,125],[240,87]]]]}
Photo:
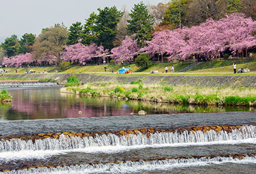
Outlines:
{"type": "Polygon", "coordinates": [[[192,86],[242,86],[255,87],[256,76],[99,76],[91,74],[24,74],[24,75],[2,75],[0,78],[20,78],[20,79],[46,79],[56,80],[60,85],[67,82],[67,78],[76,75],[82,83],[94,83],[97,81],[118,81],[121,83],[130,83],[130,81],[142,80],[144,84],[165,83],[169,85],[192,85],[192,86]]]}

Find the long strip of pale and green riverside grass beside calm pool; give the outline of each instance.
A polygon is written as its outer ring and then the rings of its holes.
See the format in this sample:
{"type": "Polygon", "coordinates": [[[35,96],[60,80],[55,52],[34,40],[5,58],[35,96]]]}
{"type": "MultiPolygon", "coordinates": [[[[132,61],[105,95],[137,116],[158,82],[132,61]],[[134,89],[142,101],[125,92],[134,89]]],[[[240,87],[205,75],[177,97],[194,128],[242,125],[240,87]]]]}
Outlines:
{"type": "Polygon", "coordinates": [[[157,103],[256,107],[256,88],[244,88],[243,86],[240,88],[210,88],[165,84],[142,85],[134,81],[130,84],[100,82],[62,88],[61,92],[157,103]]]}

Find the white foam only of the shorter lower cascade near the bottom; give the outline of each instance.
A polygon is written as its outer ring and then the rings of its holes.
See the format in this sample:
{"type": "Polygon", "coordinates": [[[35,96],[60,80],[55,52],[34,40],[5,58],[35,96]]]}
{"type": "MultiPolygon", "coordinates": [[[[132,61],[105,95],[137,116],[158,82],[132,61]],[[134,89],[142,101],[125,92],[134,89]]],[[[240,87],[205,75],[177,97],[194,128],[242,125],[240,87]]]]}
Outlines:
{"type": "Polygon", "coordinates": [[[202,157],[202,158],[181,158],[167,160],[152,160],[149,162],[125,162],[125,163],[107,163],[95,165],[76,165],[72,167],[56,167],[56,168],[32,168],[28,170],[19,170],[11,172],[2,172],[2,174],[27,174],[27,173],[133,173],[140,171],[154,170],[172,170],[173,168],[199,167],[204,165],[220,165],[223,163],[256,163],[256,157],[245,157],[242,160],[232,157],[202,157]]]}

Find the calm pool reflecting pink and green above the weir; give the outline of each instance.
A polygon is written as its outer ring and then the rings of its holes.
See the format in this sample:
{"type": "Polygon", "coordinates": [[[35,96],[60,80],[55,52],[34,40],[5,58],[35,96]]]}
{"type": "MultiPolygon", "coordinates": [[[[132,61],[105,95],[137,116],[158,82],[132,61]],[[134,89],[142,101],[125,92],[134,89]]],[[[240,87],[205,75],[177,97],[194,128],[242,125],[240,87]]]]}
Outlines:
{"type": "Polygon", "coordinates": [[[55,119],[65,117],[124,116],[144,110],[147,114],[255,111],[255,108],[199,107],[113,98],[91,98],[59,93],[59,88],[8,89],[12,104],[0,104],[0,120],[55,119]],[[79,111],[82,113],[80,114],[79,111]]]}

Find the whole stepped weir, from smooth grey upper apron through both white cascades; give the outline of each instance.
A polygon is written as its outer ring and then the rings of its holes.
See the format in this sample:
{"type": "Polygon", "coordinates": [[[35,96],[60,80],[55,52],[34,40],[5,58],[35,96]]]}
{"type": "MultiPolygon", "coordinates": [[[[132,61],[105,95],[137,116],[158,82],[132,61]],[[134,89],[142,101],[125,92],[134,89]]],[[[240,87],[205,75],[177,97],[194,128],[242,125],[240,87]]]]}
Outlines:
{"type": "Polygon", "coordinates": [[[0,121],[1,174],[254,173],[255,149],[254,112],[0,121]]]}

